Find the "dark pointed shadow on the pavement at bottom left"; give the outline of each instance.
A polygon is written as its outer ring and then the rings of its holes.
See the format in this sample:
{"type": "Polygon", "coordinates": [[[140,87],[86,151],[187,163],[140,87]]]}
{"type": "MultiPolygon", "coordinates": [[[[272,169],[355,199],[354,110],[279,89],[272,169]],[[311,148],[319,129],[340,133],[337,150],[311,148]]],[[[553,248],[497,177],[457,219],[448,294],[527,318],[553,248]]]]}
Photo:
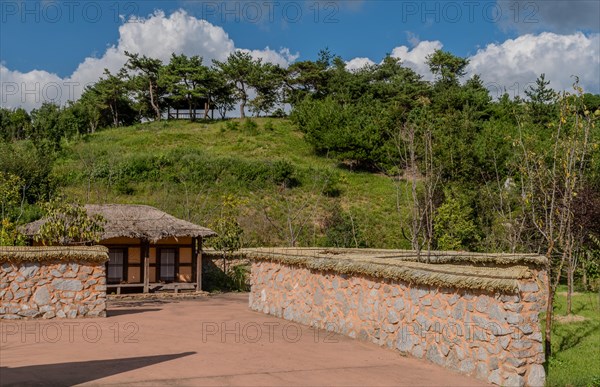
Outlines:
{"type": "Polygon", "coordinates": [[[182,352],[170,355],[141,356],[74,363],[42,364],[24,367],[0,367],[2,386],[72,386],[108,376],[193,355],[182,352]]]}

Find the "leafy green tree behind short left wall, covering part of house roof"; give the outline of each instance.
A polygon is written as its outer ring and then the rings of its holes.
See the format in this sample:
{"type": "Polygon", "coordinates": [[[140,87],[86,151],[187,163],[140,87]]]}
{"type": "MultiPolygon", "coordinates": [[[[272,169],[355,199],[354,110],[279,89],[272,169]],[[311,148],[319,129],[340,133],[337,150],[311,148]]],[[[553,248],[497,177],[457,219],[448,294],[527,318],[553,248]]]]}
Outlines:
{"type": "Polygon", "coordinates": [[[34,236],[44,245],[98,243],[106,220],[101,215],[89,216],[85,207],[67,203],[62,198],[42,205],[44,224],[34,236]]]}

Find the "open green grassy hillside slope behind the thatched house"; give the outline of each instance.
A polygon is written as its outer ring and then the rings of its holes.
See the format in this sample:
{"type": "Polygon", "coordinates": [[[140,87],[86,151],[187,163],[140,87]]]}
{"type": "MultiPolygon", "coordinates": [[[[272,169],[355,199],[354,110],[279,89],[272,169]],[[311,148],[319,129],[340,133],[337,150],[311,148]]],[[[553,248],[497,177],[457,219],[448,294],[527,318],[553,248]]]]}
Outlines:
{"type": "Polygon", "coordinates": [[[82,202],[149,204],[208,226],[228,198],[248,246],[408,247],[404,183],[315,155],[287,120],[108,129],[68,144],[53,173],[82,202]]]}

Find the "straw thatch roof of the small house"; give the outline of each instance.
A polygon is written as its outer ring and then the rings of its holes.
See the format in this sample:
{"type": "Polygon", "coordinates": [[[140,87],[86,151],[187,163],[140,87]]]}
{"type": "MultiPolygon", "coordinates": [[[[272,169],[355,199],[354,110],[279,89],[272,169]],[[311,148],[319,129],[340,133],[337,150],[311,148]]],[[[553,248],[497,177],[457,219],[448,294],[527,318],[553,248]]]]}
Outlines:
{"type": "MultiPolygon", "coordinates": [[[[88,215],[102,215],[106,219],[100,239],[118,237],[146,239],[156,242],[165,238],[211,237],[214,231],[178,219],[157,208],[131,204],[87,204],[88,215]]],[[[26,224],[23,233],[34,236],[45,219],[26,224]]]]}

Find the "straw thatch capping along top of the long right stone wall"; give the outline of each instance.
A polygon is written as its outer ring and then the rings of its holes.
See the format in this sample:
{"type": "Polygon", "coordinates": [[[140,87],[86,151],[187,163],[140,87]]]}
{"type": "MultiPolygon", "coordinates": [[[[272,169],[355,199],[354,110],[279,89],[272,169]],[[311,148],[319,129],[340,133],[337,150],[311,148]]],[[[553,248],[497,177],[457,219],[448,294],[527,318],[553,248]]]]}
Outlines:
{"type": "Polygon", "coordinates": [[[517,292],[518,281],[532,277],[527,262],[542,262],[541,258],[534,259],[531,255],[523,259],[507,254],[477,254],[473,256],[476,258],[466,259],[464,253],[435,252],[439,259],[423,263],[417,262],[415,252],[400,250],[263,248],[243,252],[251,260],[312,270],[402,280],[425,286],[506,292],[517,292]],[[483,266],[483,263],[487,265],[483,266]]]}

